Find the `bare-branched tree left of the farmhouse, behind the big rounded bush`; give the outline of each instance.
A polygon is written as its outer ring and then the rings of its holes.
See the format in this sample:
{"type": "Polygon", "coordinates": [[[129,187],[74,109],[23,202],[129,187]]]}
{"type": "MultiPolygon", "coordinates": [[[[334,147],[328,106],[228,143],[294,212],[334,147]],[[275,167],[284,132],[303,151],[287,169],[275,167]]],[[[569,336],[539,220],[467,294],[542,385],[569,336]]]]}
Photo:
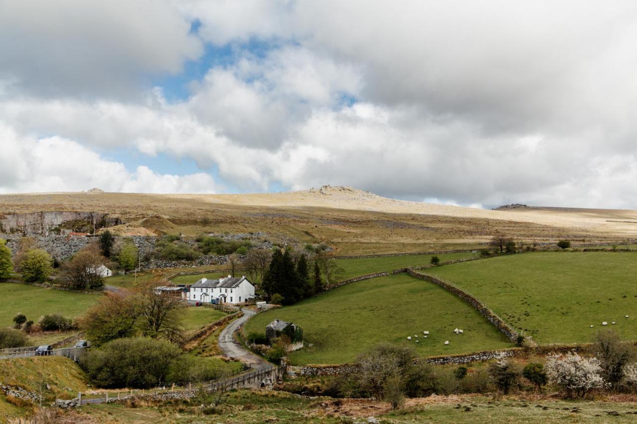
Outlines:
{"type": "Polygon", "coordinates": [[[157,292],[150,283],[141,289],[139,328],[142,336],[164,337],[174,343],[182,341],[183,303],[180,297],[157,292]]]}

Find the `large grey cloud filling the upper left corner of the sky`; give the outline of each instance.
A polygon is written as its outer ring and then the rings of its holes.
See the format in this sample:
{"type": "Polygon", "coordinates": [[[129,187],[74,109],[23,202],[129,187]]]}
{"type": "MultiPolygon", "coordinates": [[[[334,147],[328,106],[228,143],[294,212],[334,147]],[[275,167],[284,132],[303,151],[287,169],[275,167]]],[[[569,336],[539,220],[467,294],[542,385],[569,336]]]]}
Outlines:
{"type": "Polygon", "coordinates": [[[179,73],[202,52],[189,20],[164,0],[0,2],[8,94],[135,97],[145,76],[179,73]]]}

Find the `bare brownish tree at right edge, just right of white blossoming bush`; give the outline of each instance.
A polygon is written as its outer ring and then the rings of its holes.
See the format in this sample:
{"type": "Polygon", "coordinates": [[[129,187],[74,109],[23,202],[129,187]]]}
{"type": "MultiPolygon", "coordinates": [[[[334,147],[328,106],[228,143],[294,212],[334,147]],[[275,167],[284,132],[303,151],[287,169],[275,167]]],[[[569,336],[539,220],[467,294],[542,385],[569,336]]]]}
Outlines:
{"type": "Polygon", "coordinates": [[[595,336],[593,349],[602,369],[602,377],[614,388],[624,378],[624,368],[635,359],[631,345],[622,342],[617,332],[601,330],[595,336]]]}

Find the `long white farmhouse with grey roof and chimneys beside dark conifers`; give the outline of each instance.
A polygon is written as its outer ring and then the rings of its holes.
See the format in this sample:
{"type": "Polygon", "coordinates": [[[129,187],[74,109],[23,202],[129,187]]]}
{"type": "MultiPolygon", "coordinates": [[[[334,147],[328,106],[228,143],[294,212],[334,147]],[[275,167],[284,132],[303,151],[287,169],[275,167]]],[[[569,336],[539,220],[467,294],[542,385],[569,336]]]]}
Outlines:
{"type": "Polygon", "coordinates": [[[254,285],[245,276],[241,278],[202,278],[192,286],[188,300],[215,304],[238,304],[254,299],[254,285]]]}

